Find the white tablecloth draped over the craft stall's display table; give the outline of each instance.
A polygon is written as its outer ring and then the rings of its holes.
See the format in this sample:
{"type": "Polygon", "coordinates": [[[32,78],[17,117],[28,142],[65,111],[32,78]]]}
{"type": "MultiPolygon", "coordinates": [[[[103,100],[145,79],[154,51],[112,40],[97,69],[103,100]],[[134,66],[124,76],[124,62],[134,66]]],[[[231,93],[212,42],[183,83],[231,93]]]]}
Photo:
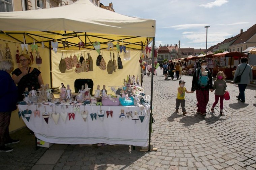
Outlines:
{"type": "MultiPolygon", "coordinates": [[[[77,106],[76,106],[77,107],[77,106]]],[[[101,106],[101,110],[105,111],[103,121],[98,116],[100,106],[80,106],[81,111],[88,111],[88,117],[84,121],[82,115],[76,111],[74,120],[69,115],[66,117],[64,122],[60,114],[57,124],[55,124],[53,117],[49,117],[48,123],[45,122],[42,114],[43,112],[55,113],[73,113],[74,108],[72,105],[68,106],[50,106],[42,105],[40,108],[37,105],[18,105],[19,111],[25,111],[26,109],[31,110],[32,114],[29,121],[22,117],[23,121],[29,129],[35,132],[35,136],[50,143],[59,144],[125,144],[133,146],[148,146],[149,137],[149,115],[145,115],[143,122],[141,120],[132,120],[131,116],[122,120],[119,118],[121,109],[124,109],[124,113],[131,111],[134,115],[134,111],[139,113],[140,107],[135,106],[101,106]],[[40,117],[35,116],[34,111],[40,111],[40,117]],[[113,118],[106,111],[113,111],[113,118]],[[91,113],[97,113],[96,120],[91,118],[91,113]]],[[[78,108],[78,107],[77,107],[78,108]]],[[[138,114],[137,117],[139,118],[138,114]]],[[[134,116],[133,116],[134,118],[134,116]]],[[[139,118],[140,119],[140,118],[139,118]]]]}

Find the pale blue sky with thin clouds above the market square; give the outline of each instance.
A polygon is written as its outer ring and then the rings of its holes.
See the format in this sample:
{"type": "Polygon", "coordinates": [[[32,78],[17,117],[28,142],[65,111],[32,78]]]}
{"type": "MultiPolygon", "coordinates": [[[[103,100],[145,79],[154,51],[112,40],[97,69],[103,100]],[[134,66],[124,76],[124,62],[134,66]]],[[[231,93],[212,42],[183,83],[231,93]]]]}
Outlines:
{"type": "Polygon", "coordinates": [[[156,46],[207,48],[256,24],[256,0],[100,0],[115,12],[156,20],[156,46]]]}

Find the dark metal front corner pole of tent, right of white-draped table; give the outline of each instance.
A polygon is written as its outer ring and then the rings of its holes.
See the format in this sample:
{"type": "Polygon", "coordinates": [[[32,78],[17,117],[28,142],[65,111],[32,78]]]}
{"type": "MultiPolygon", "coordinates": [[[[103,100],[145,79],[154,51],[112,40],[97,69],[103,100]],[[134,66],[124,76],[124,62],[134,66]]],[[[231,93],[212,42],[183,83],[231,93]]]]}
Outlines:
{"type": "MultiPolygon", "coordinates": [[[[151,144],[151,128],[152,128],[152,106],[153,106],[153,82],[154,82],[154,71],[155,71],[155,67],[154,67],[154,53],[155,53],[155,37],[153,37],[153,43],[152,43],[152,74],[151,74],[151,99],[150,99],[150,119],[149,119],[149,150],[150,151],[150,144],[151,144]]],[[[146,69],[146,68],[145,68],[146,69]]]]}

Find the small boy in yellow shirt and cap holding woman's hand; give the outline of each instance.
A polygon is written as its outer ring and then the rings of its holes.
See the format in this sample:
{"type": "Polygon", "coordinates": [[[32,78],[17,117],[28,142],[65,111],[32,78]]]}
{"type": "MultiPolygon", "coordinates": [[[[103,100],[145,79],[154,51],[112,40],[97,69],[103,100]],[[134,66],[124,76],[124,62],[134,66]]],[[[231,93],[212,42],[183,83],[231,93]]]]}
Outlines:
{"type": "Polygon", "coordinates": [[[187,91],[185,86],[184,80],[179,81],[180,87],[178,88],[178,95],[176,99],[176,113],[179,113],[179,107],[181,105],[183,115],[186,115],[186,109],[185,109],[185,92],[186,93],[193,93],[192,91],[187,91]]]}

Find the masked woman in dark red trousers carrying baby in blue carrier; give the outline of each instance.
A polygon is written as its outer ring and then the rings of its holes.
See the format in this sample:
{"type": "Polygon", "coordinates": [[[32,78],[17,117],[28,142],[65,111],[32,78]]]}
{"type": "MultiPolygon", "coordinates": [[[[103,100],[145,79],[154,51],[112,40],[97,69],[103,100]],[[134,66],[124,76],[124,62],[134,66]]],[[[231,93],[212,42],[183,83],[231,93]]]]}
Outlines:
{"type": "Polygon", "coordinates": [[[207,67],[207,61],[201,62],[201,68],[197,68],[193,75],[191,91],[196,91],[197,113],[205,116],[206,106],[209,101],[209,90],[213,91],[212,74],[207,67]]]}

